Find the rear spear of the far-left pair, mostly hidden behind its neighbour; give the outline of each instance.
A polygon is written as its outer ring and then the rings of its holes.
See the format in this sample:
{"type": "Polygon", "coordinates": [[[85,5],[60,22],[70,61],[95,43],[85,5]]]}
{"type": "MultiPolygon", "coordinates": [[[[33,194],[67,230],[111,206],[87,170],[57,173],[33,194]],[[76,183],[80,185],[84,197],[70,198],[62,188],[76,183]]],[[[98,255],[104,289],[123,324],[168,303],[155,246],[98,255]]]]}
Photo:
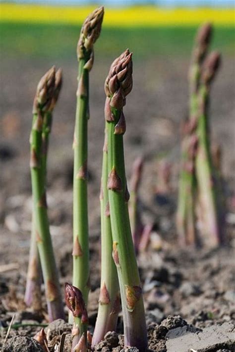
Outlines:
{"type": "MultiPolygon", "coordinates": [[[[62,86],[62,70],[56,72],[55,88],[51,101],[51,105],[44,113],[43,132],[42,132],[42,174],[44,177],[44,187],[46,188],[46,173],[47,173],[47,154],[49,134],[52,125],[52,112],[59,98],[59,92],[62,86]]],[[[34,219],[34,209],[32,209],[32,232],[29,252],[29,265],[27,272],[26,290],[24,301],[28,306],[32,306],[35,310],[41,309],[41,265],[36,242],[36,229],[34,219]]]]}

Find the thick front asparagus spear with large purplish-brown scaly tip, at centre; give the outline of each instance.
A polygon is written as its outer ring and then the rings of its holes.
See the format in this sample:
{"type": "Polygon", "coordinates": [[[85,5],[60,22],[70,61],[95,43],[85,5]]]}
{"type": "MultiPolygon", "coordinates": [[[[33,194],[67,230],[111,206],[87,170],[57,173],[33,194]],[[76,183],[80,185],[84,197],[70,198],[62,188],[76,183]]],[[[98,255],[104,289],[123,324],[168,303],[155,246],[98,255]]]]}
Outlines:
{"type": "Polygon", "coordinates": [[[105,82],[105,117],[108,126],[108,189],[113,236],[113,257],[121,294],[124,343],[140,352],[147,349],[144,305],[128,215],[123,134],[125,97],[132,89],[132,54],[125,50],[113,62],[105,82]]]}

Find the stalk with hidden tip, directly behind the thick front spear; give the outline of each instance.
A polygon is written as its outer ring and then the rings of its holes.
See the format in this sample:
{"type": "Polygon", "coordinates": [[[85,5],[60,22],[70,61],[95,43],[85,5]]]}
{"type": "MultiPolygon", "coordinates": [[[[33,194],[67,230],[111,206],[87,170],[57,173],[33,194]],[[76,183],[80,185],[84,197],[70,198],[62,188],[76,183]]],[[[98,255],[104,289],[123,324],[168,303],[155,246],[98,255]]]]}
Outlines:
{"type": "MultiPolygon", "coordinates": [[[[107,122],[106,122],[107,125],[107,122]]],[[[117,269],[112,256],[113,239],[110,222],[110,205],[108,198],[108,150],[107,128],[105,130],[105,143],[103,148],[103,165],[101,178],[101,291],[99,309],[92,347],[104,339],[108,331],[116,331],[117,315],[120,308],[118,292],[117,269]]]]}

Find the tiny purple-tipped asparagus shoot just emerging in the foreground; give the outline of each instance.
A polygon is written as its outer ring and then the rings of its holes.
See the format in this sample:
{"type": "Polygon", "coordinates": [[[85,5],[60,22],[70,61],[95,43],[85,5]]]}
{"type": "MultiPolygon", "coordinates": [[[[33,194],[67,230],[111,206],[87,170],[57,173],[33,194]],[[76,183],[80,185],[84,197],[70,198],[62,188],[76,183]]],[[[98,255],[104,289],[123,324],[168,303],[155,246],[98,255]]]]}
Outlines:
{"type": "Polygon", "coordinates": [[[66,305],[74,317],[71,351],[86,352],[88,315],[82,293],[77,287],[66,282],[64,296],[66,305]]]}

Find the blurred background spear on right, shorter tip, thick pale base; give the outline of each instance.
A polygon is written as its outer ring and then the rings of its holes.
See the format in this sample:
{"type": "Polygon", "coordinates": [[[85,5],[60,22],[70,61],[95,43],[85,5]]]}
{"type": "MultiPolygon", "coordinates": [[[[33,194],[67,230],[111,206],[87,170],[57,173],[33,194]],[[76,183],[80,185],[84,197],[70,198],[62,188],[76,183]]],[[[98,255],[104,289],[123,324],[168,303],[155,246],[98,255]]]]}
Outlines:
{"type": "Polygon", "coordinates": [[[196,154],[196,176],[198,181],[199,203],[203,214],[203,232],[210,239],[212,247],[218,246],[222,240],[217,208],[217,194],[212,156],[210,151],[208,104],[211,83],[220,66],[220,54],[211,52],[206,58],[201,74],[201,84],[198,92],[198,151],[196,154]]]}

